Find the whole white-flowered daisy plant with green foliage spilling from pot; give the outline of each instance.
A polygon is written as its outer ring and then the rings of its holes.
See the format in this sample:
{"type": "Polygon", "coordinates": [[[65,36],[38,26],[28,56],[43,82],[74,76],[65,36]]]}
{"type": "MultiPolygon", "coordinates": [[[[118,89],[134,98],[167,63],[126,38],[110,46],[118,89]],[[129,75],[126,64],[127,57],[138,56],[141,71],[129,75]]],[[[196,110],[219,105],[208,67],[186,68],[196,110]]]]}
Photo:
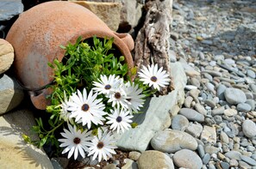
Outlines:
{"type": "Polygon", "coordinates": [[[61,46],[66,50],[62,62],[48,63],[54,70],[50,118],[47,124],[36,119],[33,130],[39,141],[23,138],[39,147],[51,144],[56,155],[68,159],[91,156],[101,161],[116,154],[114,134],[136,127],[134,113],[141,113],[144,100],[171,79],[157,64],[143,66],[140,72],[128,68],[124,57],[114,55],[114,39],[91,41],[80,37],[74,45],[61,46]]]}

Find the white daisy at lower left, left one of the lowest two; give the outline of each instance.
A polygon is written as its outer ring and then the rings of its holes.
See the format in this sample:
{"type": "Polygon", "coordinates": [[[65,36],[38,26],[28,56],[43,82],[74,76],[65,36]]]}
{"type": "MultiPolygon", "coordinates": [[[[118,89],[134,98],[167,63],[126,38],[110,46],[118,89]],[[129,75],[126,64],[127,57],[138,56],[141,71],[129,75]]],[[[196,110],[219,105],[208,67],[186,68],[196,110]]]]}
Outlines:
{"type": "Polygon", "coordinates": [[[59,139],[59,142],[62,142],[59,147],[63,148],[66,147],[63,151],[62,154],[66,154],[67,152],[67,158],[71,158],[72,154],[74,154],[74,159],[76,160],[78,158],[78,154],[80,154],[83,158],[85,157],[84,151],[88,152],[89,151],[89,146],[91,145],[91,131],[86,132],[81,132],[81,130],[77,130],[76,126],[72,128],[71,124],[68,124],[68,129],[64,129],[64,133],[60,133],[61,136],[64,138],[59,139]]]}

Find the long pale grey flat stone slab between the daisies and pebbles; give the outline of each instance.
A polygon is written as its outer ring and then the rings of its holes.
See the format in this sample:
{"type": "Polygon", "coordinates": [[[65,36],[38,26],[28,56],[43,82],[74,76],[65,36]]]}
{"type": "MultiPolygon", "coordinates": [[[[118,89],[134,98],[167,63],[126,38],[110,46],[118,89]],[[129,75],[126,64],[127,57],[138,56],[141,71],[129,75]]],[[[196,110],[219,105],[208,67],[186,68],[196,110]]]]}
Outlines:
{"type": "Polygon", "coordinates": [[[118,148],[143,152],[155,133],[171,125],[170,116],[175,116],[184,103],[186,76],[180,63],[171,63],[174,90],[164,96],[147,100],[142,111],[136,114],[136,128],[126,131],[117,141],[118,148]]]}

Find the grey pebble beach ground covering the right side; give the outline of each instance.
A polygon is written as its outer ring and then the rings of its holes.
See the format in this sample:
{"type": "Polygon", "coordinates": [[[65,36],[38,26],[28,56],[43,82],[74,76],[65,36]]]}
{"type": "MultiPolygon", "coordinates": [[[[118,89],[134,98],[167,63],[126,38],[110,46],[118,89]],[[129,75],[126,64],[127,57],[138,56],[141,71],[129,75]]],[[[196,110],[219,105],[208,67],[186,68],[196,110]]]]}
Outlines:
{"type": "MultiPolygon", "coordinates": [[[[200,159],[202,168],[256,168],[256,2],[174,1],[172,17],[172,51],[188,77],[172,130],[194,136],[200,157],[188,168],[200,159]]],[[[184,154],[171,155],[175,166],[184,154]]]]}

